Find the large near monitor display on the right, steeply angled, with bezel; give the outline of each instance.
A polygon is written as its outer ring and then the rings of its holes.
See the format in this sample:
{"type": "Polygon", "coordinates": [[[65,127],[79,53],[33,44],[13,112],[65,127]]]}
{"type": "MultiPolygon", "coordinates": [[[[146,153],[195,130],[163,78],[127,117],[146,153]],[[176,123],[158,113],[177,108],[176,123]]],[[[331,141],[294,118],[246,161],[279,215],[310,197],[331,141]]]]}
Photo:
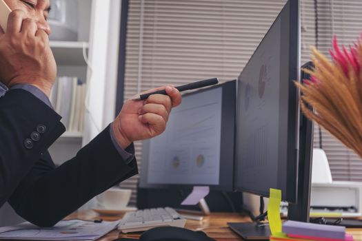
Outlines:
{"type": "Polygon", "coordinates": [[[235,187],[260,196],[281,189],[296,201],[298,164],[298,8],[288,2],[237,82],[235,187]]]}

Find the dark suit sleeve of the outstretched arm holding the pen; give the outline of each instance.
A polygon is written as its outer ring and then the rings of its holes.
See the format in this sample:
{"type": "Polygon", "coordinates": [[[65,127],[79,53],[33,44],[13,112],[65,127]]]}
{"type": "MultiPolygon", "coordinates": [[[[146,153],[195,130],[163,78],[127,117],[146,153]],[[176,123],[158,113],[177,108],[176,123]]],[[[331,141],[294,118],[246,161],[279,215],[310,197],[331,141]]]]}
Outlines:
{"type": "MultiPolygon", "coordinates": [[[[137,174],[135,158],[125,163],[109,128],[56,169],[40,160],[14,192],[10,205],[26,220],[51,227],[94,196],[137,174]]],[[[134,152],[133,145],[126,151],[134,152]]]]}

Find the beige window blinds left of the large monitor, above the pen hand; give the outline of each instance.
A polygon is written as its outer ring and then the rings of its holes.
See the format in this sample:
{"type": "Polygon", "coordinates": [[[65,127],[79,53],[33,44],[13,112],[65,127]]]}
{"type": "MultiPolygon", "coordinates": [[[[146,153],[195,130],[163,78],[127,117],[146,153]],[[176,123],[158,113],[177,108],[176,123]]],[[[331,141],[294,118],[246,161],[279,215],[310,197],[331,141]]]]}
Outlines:
{"type": "MultiPolygon", "coordinates": [[[[130,0],[125,99],[169,83],[237,78],[285,2],[130,0]]],[[[141,143],[135,145],[141,167],[141,143]]],[[[137,179],[121,187],[136,189],[137,179]]],[[[135,198],[134,191],[131,203],[135,198]]]]}

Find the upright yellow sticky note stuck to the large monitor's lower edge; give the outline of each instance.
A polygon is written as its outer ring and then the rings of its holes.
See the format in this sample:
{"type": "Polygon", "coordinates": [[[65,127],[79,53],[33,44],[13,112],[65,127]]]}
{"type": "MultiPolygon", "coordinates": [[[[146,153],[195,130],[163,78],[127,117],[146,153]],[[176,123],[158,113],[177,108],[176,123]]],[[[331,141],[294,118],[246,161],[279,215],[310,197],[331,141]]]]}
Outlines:
{"type": "Polygon", "coordinates": [[[268,205],[268,220],[272,235],[281,233],[281,190],[270,189],[270,198],[268,205]]]}

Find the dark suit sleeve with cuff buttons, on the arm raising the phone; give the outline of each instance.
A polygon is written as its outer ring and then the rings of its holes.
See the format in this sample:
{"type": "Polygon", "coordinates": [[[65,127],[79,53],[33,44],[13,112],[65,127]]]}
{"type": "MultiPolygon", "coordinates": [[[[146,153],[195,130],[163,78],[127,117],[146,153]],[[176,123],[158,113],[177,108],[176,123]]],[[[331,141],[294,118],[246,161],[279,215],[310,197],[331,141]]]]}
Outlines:
{"type": "Polygon", "coordinates": [[[26,90],[0,98],[0,207],[65,128],[61,116],[26,90]]]}

